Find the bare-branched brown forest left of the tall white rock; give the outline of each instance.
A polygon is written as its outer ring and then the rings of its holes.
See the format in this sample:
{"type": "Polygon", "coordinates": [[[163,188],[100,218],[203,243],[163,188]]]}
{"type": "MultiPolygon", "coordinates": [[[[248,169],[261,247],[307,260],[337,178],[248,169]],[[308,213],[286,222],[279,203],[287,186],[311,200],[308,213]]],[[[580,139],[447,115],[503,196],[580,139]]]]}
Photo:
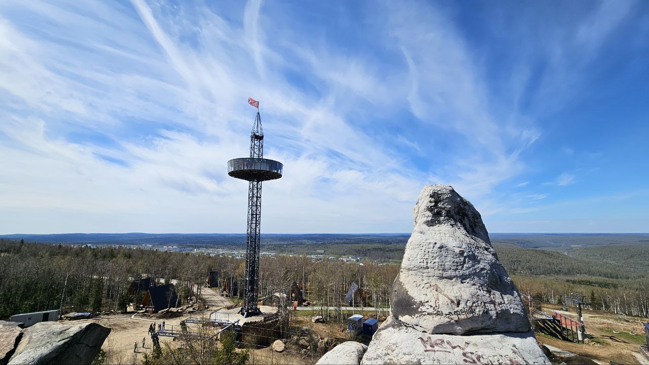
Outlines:
{"type": "MultiPolygon", "coordinates": [[[[63,312],[124,311],[136,300],[130,281],[153,277],[174,283],[182,301],[199,294],[211,270],[243,295],[243,259],[127,247],[73,247],[62,244],[0,240],[0,318],[21,312],[61,308],[63,312]],[[234,283],[234,285],[232,285],[234,283]]],[[[358,265],[342,261],[313,263],[306,255],[262,257],[260,298],[301,281],[319,305],[341,307],[350,283],[371,292],[369,300],[387,307],[397,265],[358,265]]],[[[326,311],[339,317],[341,310],[326,311]]]]}

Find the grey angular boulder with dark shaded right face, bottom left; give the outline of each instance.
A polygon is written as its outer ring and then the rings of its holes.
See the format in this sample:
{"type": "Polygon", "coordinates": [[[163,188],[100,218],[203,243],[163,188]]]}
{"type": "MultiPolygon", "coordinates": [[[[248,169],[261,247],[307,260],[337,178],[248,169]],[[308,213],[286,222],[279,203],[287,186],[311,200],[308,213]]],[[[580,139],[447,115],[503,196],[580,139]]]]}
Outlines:
{"type": "Polygon", "coordinates": [[[22,333],[8,364],[90,364],[110,328],[96,323],[40,322],[22,333]]]}

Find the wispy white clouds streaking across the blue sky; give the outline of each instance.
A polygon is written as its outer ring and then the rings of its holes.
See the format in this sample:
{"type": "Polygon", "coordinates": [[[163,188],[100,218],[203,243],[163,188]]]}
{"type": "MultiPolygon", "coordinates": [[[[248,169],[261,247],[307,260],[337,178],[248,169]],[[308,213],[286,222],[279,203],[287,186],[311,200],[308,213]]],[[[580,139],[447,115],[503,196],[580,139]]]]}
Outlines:
{"type": "MultiPolygon", "coordinates": [[[[11,163],[0,233],[241,231],[245,183],[225,161],[247,155],[247,97],[262,100],[266,156],[285,163],[282,180],[264,185],[264,231],[408,231],[413,199],[434,182],[486,215],[546,197],[494,197],[527,179],[522,156],[544,131],[502,112],[441,8],[373,7],[349,32],[365,34],[366,48],[283,10],[260,0],[1,4],[0,159],[11,163]]],[[[596,50],[624,19],[616,11],[592,38],[587,20],[574,42],[596,50]]],[[[511,78],[503,92],[518,100],[524,67],[511,78]]]]}

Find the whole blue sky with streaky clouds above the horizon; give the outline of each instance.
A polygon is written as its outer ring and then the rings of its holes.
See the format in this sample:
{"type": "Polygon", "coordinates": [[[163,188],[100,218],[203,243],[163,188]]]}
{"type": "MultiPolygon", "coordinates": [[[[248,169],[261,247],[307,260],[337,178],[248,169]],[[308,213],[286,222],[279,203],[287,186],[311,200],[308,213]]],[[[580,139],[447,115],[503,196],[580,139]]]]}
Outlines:
{"type": "Polygon", "coordinates": [[[646,1],[0,3],[0,233],[649,231],[646,1]]]}

